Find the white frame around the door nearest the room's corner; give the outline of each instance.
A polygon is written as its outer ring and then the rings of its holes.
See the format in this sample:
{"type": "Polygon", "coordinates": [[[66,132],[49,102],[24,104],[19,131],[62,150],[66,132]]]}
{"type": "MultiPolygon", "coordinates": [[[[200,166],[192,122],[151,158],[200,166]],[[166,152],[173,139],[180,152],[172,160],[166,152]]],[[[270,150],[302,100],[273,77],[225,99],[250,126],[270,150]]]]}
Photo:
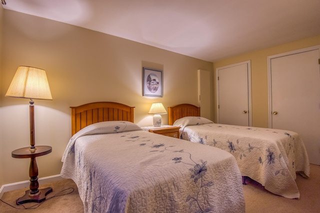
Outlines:
{"type": "Polygon", "coordinates": [[[229,64],[229,65],[225,65],[225,66],[221,66],[221,67],[217,67],[215,69],[215,90],[216,90],[216,121],[219,122],[219,80],[218,80],[218,73],[220,69],[225,69],[225,68],[229,68],[232,66],[238,66],[238,65],[242,65],[242,64],[246,64],[247,66],[247,84],[248,84],[248,121],[249,121],[249,125],[248,126],[252,126],[252,102],[251,102],[251,60],[246,60],[246,61],[242,61],[242,62],[238,62],[238,63],[233,63],[233,64],[229,64]]]}

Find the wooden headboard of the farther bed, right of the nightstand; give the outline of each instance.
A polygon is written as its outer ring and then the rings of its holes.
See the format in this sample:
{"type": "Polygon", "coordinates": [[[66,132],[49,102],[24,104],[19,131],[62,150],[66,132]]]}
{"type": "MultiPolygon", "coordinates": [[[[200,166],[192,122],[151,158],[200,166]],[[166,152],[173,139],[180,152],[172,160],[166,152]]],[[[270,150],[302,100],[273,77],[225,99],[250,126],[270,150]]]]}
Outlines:
{"type": "Polygon", "coordinates": [[[175,120],[185,116],[200,116],[200,107],[189,104],[181,103],[175,106],[168,107],[169,125],[172,125],[175,120]]]}

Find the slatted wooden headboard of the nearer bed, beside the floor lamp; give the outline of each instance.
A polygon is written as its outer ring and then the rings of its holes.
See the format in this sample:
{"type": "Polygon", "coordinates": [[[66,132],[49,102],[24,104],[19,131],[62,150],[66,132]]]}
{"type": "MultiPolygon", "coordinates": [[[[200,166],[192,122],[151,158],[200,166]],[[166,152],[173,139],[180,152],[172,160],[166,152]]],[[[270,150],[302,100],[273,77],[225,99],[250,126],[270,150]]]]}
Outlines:
{"type": "Polygon", "coordinates": [[[71,133],[92,123],[124,120],[133,122],[134,106],[116,102],[92,102],[80,106],[71,106],[71,133]]]}

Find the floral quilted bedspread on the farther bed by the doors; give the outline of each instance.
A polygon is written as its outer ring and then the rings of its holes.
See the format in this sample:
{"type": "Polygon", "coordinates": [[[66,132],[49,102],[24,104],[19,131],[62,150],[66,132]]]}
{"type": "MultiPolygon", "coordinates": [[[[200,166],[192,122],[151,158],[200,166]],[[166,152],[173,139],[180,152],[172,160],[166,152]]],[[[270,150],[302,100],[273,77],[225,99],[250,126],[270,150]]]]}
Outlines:
{"type": "Polygon", "coordinates": [[[296,172],[310,173],[300,136],[293,131],[213,123],[203,117],[183,117],[180,138],[218,147],[233,154],[242,176],[261,183],[274,194],[299,198],[296,172]]]}

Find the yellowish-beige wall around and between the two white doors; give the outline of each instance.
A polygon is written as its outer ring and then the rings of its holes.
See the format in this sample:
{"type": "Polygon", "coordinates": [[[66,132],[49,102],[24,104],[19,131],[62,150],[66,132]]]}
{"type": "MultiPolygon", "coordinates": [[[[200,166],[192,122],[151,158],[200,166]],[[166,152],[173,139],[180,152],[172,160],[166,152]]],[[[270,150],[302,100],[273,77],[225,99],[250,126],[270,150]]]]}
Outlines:
{"type": "MultiPolygon", "coordinates": [[[[320,44],[320,35],[297,40],[282,45],[249,52],[246,54],[237,55],[224,60],[216,61],[213,63],[213,89],[214,101],[215,94],[215,70],[217,67],[251,60],[251,90],[252,90],[252,125],[258,127],[268,127],[268,90],[267,90],[267,56],[291,51],[295,49],[305,48],[320,44]]],[[[216,118],[215,102],[212,104],[211,114],[216,118]]]]}

